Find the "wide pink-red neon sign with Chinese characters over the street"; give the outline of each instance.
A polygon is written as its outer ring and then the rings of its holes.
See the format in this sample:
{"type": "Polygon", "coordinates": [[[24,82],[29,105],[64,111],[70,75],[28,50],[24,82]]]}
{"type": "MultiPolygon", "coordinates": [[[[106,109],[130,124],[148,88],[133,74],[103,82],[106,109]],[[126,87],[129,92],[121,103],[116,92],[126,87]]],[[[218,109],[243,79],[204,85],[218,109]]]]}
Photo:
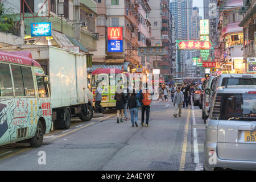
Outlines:
{"type": "Polygon", "coordinates": [[[209,50],[212,43],[206,40],[177,40],[178,49],[180,50],[209,50]]]}

